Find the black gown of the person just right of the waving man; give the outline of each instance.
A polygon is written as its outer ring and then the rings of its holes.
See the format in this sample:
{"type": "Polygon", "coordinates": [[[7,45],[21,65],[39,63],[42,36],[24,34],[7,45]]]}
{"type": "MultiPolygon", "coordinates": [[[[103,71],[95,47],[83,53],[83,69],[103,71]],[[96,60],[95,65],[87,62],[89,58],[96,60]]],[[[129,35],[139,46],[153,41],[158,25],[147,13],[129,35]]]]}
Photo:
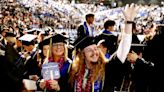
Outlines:
{"type": "Polygon", "coordinates": [[[130,92],[149,92],[151,71],[153,66],[151,63],[145,63],[141,59],[137,59],[134,64],[126,61],[124,64],[124,86],[123,90],[128,90],[130,86],[130,92]],[[130,81],[132,84],[130,84],[130,81]]]}

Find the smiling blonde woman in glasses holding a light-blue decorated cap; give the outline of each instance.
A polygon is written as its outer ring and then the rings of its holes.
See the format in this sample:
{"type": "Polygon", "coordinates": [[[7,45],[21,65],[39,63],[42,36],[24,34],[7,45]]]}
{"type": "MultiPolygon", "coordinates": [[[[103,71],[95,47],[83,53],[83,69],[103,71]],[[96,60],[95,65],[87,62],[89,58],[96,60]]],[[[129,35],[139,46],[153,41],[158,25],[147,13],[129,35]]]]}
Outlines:
{"type": "MultiPolygon", "coordinates": [[[[72,62],[68,58],[68,48],[66,46],[67,39],[68,38],[62,34],[55,34],[48,39],[50,41],[43,41],[44,46],[47,46],[47,42],[50,42],[50,47],[48,51],[50,54],[46,54],[47,61],[44,61],[42,66],[47,63],[57,63],[60,72],[60,77],[57,79],[51,78],[46,80],[42,75],[42,77],[37,82],[38,88],[40,88],[41,90],[46,90],[47,92],[53,92],[55,90],[59,92],[69,91],[70,87],[68,85],[68,79],[72,62]]],[[[45,52],[43,51],[43,54],[44,53],[45,52]]]]}

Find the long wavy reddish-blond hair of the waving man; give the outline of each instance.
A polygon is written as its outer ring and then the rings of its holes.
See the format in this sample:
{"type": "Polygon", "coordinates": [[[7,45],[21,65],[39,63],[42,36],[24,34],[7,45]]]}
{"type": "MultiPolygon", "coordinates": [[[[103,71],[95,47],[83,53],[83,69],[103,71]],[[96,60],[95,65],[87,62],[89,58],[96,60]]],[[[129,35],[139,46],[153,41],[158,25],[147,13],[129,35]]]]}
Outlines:
{"type": "MultiPolygon", "coordinates": [[[[103,79],[105,75],[105,57],[102,54],[102,52],[99,49],[100,56],[98,58],[98,64],[94,65],[94,69],[92,70],[92,78],[91,81],[94,82],[95,80],[103,79]]],[[[74,60],[72,63],[72,69],[70,73],[70,83],[72,84],[75,80],[76,76],[79,76],[81,73],[81,70],[85,66],[85,56],[83,51],[78,51],[77,55],[74,55],[74,60]]]]}

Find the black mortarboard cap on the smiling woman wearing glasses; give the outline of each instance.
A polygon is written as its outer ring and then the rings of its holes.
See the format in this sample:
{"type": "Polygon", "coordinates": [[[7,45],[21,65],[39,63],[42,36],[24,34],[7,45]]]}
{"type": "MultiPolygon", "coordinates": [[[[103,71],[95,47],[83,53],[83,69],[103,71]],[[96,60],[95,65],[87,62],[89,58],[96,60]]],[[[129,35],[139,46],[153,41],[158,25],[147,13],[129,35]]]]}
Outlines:
{"type": "Polygon", "coordinates": [[[62,34],[55,34],[52,36],[52,43],[58,43],[58,42],[63,42],[67,43],[68,38],[62,34]]]}

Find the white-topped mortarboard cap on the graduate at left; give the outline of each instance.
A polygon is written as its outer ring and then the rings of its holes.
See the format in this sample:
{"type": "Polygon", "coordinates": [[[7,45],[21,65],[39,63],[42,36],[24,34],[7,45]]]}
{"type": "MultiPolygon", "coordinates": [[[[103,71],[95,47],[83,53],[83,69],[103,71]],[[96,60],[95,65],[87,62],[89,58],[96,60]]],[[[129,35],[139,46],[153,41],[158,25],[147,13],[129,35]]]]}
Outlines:
{"type": "Polygon", "coordinates": [[[20,41],[22,41],[23,45],[32,45],[35,43],[35,39],[37,38],[36,35],[32,35],[32,34],[25,34],[22,37],[19,38],[20,41]]]}

